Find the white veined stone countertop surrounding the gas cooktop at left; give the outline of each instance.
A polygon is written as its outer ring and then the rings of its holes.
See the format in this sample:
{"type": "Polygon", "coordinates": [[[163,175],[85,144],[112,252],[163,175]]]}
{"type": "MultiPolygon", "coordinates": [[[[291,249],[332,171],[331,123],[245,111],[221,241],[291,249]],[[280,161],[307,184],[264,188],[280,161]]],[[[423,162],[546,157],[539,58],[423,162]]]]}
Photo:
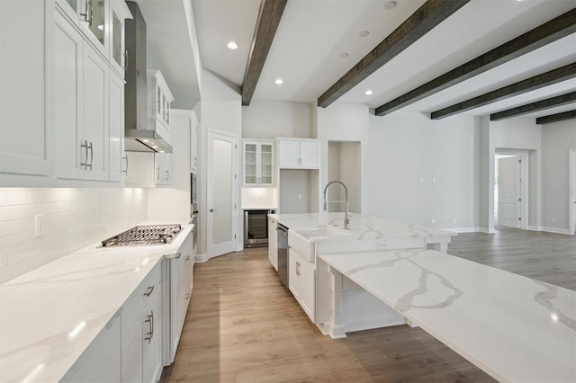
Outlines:
{"type": "Polygon", "coordinates": [[[148,272],[176,253],[193,225],[182,227],[169,245],[98,242],[0,285],[0,381],[62,379],[148,272]]]}

